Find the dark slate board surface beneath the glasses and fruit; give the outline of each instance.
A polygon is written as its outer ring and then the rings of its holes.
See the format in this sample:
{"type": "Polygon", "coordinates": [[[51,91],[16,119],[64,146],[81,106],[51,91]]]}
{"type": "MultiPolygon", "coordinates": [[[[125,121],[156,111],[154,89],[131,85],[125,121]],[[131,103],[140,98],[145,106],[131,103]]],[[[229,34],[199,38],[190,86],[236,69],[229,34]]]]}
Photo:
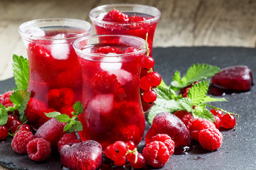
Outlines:
{"type": "MultiPolygon", "coordinates": [[[[167,47],[154,48],[155,69],[169,84],[176,70],[181,75],[196,63],[220,68],[244,64],[256,73],[256,49],[242,47],[167,47]]],[[[0,92],[14,88],[14,80],[0,81],[0,92]]],[[[215,152],[206,152],[193,145],[189,154],[173,155],[161,169],[256,169],[256,91],[225,94],[228,102],[215,102],[214,106],[240,114],[237,130],[223,130],[223,145],[215,152]]],[[[143,141],[142,144],[143,145],[143,141]]],[[[33,162],[27,155],[11,149],[11,137],[0,142],[0,164],[11,169],[63,169],[58,154],[46,162],[33,162]]],[[[104,168],[106,169],[106,168],[104,168]]],[[[110,168],[112,169],[112,168],[110,168]]],[[[120,168],[116,168],[120,169],[120,168]]],[[[122,169],[122,168],[121,168],[122,169]]],[[[146,169],[151,169],[149,166],[146,169]]]]}

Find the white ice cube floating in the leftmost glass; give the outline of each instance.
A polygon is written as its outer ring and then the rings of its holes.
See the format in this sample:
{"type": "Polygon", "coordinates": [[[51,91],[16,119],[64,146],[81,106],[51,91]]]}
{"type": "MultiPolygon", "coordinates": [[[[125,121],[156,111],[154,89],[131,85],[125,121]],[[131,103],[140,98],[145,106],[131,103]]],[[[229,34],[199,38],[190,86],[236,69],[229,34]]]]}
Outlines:
{"type": "MultiPolygon", "coordinates": [[[[57,34],[53,36],[53,39],[54,38],[65,38],[65,35],[57,34]]],[[[70,46],[68,45],[67,40],[56,40],[56,43],[50,45],[50,52],[56,60],[67,60],[70,53],[70,46]]]]}

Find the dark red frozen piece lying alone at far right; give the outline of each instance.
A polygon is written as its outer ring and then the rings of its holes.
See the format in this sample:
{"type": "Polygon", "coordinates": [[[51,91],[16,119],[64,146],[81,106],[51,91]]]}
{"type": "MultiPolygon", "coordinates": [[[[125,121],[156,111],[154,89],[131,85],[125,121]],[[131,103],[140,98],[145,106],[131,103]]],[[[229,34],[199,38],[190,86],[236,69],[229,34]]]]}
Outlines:
{"type": "Polygon", "coordinates": [[[212,82],[225,89],[247,91],[253,84],[252,71],[244,65],[226,67],[212,77],[212,82]]]}

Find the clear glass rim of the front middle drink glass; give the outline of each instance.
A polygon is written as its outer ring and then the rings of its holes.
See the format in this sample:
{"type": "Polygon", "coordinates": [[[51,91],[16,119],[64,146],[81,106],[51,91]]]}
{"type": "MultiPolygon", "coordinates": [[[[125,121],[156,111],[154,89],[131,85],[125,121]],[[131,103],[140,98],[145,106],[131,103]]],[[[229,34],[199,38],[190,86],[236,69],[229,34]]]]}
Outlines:
{"type": "MultiPolygon", "coordinates": [[[[145,40],[143,38],[139,38],[133,35],[108,35],[108,34],[95,34],[95,35],[87,35],[85,37],[82,38],[78,38],[77,40],[75,40],[75,42],[73,43],[73,47],[75,49],[75,51],[78,51],[80,54],[82,55],[88,55],[90,57],[127,57],[129,55],[137,55],[139,53],[145,53],[146,52],[146,48],[144,46],[140,47],[138,51],[136,52],[129,52],[129,53],[124,53],[124,54],[113,54],[113,55],[109,55],[109,54],[98,54],[98,53],[92,53],[92,52],[85,52],[83,50],[81,50],[80,47],[78,47],[78,43],[84,40],[89,40],[90,38],[101,38],[101,37],[124,37],[124,38],[133,38],[134,40],[140,40],[142,42],[144,42],[145,45],[145,40]]],[[[90,46],[90,45],[85,45],[86,46],[90,46]]],[[[80,57],[78,55],[78,57],[80,57]]],[[[82,57],[84,58],[84,57],[82,57]]]]}

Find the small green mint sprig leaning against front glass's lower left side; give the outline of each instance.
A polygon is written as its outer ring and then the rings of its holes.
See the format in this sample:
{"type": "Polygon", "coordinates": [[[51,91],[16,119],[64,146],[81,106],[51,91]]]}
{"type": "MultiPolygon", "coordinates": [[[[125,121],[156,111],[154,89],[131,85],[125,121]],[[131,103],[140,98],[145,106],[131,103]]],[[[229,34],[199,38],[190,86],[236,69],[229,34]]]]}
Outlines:
{"type": "Polygon", "coordinates": [[[56,118],[61,123],[66,123],[63,131],[67,131],[68,133],[74,132],[75,130],[82,131],[82,123],[78,120],[78,115],[83,112],[82,103],[80,101],[76,102],[73,105],[73,109],[72,118],[59,112],[46,113],[46,116],[48,118],[56,118]]]}

